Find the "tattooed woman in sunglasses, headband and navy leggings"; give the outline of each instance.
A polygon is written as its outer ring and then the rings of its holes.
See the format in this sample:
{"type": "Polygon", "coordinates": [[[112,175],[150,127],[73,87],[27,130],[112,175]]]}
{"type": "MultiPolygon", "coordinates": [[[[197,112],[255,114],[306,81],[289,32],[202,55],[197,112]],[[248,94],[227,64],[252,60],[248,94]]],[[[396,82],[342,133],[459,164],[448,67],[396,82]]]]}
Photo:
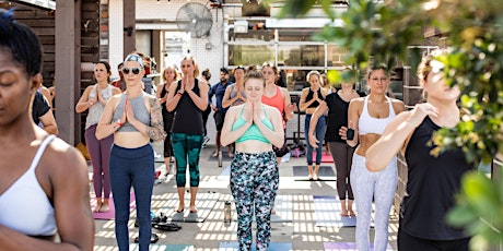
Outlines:
{"type": "Polygon", "coordinates": [[[159,100],[142,89],[143,60],[128,55],[124,61],[126,92],[113,96],[105,106],[96,138],[114,134],[110,150],[110,183],[115,204],[115,231],[119,250],[129,250],[129,196],[134,189],[140,250],[149,250],[150,219],[154,186],[154,151],[150,139],[164,140],[163,116],[159,100]]]}

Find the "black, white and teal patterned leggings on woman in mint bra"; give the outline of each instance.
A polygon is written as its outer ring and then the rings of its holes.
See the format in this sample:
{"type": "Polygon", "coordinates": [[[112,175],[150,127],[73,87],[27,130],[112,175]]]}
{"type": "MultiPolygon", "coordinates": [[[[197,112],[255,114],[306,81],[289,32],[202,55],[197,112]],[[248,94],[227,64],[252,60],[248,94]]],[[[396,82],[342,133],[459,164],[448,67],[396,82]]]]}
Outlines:
{"type": "Polygon", "coordinates": [[[257,250],[268,250],[271,239],[271,210],[278,184],[278,164],[273,152],[235,153],[231,164],[231,192],[237,210],[239,250],[252,250],[254,211],[257,222],[257,250]]]}

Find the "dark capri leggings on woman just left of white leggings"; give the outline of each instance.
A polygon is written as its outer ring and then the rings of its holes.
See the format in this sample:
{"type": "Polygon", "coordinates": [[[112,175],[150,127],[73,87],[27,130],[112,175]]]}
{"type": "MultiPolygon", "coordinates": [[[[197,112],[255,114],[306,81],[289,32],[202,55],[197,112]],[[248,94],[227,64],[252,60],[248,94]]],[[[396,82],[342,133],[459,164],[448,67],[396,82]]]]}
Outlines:
{"type": "Polygon", "coordinates": [[[340,200],[354,200],[351,189],[351,164],[353,163],[354,147],[341,142],[328,142],[337,171],[337,193],[340,200]]]}

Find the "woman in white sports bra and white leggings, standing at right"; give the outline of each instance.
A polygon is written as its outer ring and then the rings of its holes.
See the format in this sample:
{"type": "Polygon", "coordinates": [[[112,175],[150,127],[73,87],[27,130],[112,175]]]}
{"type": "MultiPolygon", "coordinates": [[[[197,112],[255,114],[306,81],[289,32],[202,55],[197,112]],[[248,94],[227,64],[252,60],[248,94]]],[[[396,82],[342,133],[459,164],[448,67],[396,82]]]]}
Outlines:
{"type": "Polygon", "coordinates": [[[366,150],[383,134],[389,121],[405,110],[398,99],[386,96],[389,85],[387,69],[379,65],[369,70],[370,95],[351,100],[348,111],[349,128],[341,128],[339,134],[347,139],[350,146],[356,146],[351,167],[351,188],[356,204],[356,248],[367,251],[370,248],[369,229],[371,226],[372,199],[375,202],[374,250],[384,251],[388,244],[388,219],[395,190],[397,187],[396,159],[379,172],[371,172],[365,167],[366,150]],[[352,140],[350,134],[354,134],[352,140]]]}

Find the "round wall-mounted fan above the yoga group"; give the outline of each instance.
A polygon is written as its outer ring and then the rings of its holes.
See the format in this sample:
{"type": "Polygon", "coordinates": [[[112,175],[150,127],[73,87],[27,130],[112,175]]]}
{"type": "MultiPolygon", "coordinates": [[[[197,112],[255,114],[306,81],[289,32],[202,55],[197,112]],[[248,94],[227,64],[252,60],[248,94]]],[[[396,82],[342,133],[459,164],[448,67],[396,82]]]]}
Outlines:
{"type": "Polygon", "coordinates": [[[204,37],[213,26],[210,9],[198,2],[185,3],[176,13],[176,24],[192,37],[204,37]]]}

